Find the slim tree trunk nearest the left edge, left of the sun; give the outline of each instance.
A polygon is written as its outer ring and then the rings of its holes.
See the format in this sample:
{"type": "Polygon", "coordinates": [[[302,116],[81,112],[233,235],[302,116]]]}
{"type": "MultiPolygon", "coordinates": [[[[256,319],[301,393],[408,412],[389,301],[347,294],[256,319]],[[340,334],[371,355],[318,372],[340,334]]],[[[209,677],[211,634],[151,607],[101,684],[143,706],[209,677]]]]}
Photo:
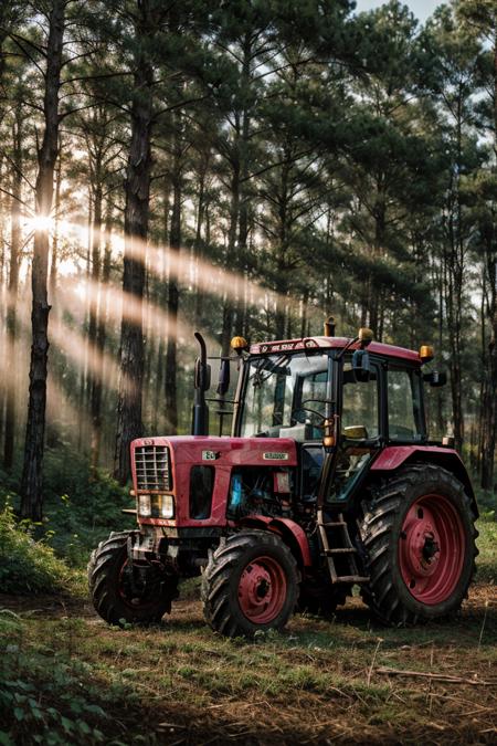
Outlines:
{"type": "MultiPolygon", "coordinates": [[[[15,111],[13,126],[13,162],[12,171],[12,207],[11,207],[11,243],[9,271],[9,298],[7,311],[8,355],[15,360],[17,304],[19,288],[19,260],[21,251],[21,188],[22,188],[22,117],[15,111]]],[[[15,438],[15,393],[14,380],[7,381],[6,387],[6,430],[3,443],[3,464],[7,471],[12,469],[15,438]]]]}

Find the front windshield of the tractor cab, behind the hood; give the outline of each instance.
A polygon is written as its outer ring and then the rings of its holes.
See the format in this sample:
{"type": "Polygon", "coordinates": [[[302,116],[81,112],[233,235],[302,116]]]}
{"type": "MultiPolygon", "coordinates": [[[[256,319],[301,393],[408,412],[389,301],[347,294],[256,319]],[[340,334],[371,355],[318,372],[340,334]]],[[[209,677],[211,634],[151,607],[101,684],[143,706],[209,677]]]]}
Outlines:
{"type": "Polygon", "coordinates": [[[288,428],[298,429],[307,423],[313,430],[310,437],[319,438],[329,356],[320,353],[271,355],[253,358],[248,366],[240,434],[293,437],[288,428]]]}

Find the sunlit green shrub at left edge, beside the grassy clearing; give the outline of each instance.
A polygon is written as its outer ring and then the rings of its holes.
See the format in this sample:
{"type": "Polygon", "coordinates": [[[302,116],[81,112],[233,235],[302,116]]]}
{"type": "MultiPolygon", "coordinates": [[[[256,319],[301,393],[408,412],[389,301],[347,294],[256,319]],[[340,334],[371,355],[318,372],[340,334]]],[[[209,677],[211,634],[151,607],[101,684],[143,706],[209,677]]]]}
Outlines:
{"type": "Polygon", "coordinates": [[[0,589],[4,593],[74,591],[78,575],[33,538],[33,526],[18,524],[12,507],[0,513],[0,589]]]}

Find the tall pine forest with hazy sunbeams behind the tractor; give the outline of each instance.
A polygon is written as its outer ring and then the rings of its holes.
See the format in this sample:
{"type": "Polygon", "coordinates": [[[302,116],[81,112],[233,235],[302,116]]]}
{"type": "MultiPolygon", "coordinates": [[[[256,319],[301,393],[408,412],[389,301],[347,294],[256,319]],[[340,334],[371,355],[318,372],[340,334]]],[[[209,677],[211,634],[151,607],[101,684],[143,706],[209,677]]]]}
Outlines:
{"type": "Polygon", "coordinates": [[[0,445],[25,515],[46,454],[124,483],[134,438],[190,431],[194,329],[226,355],[329,314],[435,345],[431,435],[491,488],[494,6],[321,4],[2,3],[0,445]]]}

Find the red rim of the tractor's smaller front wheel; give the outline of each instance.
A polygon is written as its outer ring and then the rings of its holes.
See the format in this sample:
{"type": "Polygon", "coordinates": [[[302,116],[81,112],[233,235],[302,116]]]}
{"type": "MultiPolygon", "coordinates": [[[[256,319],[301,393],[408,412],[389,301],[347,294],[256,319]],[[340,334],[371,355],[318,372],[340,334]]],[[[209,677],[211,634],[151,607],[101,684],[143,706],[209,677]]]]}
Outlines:
{"type": "Polygon", "coordinates": [[[256,557],[239,581],[239,603],[254,624],[267,624],[282,611],[286,599],[285,572],[276,559],[256,557]]]}

